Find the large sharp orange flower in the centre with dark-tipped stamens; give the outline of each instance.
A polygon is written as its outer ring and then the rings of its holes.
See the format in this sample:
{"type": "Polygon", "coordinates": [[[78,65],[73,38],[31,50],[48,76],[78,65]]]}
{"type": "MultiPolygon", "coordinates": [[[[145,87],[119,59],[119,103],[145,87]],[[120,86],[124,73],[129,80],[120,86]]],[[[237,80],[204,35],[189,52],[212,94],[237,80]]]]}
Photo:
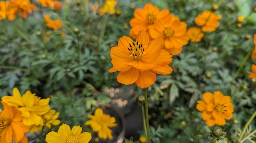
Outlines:
{"type": "Polygon", "coordinates": [[[168,66],[172,55],[162,49],[163,44],[162,37],[149,43],[149,35],[144,30],[139,32],[136,41],[127,36],[119,38],[118,45],[110,50],[113,67],[108,72],[119,71],[117,81],[125,85],[136,83],[143,89],[153,85],[155,73],[166,75],[173,71],[168,66]]]}

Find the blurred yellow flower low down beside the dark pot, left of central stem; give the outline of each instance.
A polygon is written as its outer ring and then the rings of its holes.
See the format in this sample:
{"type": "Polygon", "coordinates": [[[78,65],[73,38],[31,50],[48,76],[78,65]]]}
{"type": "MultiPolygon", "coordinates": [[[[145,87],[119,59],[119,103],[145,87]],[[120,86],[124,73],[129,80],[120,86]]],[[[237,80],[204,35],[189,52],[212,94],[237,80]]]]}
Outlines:
{"type": "Polygon", "coordinates": [[[94,111],[94,115],[88,115],[90,120],[85,122],[85,125],[90,125],[94,132],[98,132],[98,137],[101,139],[113,139],[112,130],[110,128],[116,127],[115,117],[110,117],[103,113],[101,108],[94,111]]]}

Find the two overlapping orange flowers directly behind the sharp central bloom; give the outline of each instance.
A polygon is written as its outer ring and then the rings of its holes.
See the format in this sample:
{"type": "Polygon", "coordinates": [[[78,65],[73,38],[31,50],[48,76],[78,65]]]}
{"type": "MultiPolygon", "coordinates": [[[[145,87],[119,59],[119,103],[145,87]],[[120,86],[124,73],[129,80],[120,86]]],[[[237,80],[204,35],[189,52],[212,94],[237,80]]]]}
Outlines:
{"type": "Polygon", "coordinates": [[[140,30],[148,32],[150,41],[158,37],[164,39],[163,49],[173,55],[180,54],[182,46],[189,37],[186,34],[186,23],[179,17],[170,14],[168,9],[159,11],[156,6],[146,4],[144,9],[136,9],[134,18],[130,20],[130,36],[136,39],[140,30]]]}

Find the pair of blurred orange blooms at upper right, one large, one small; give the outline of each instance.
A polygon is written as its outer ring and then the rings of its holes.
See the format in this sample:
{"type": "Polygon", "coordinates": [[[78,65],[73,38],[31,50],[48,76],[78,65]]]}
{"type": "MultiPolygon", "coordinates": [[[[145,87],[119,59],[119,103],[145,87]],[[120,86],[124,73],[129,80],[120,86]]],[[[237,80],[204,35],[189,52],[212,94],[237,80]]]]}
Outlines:
{"type": "Polygon", "coordinates": [[[213,11],[204,11],[195,18],[195,24],[201,28],[193,26],[187,30],[191,42],[199,42],[204,37],[204,32],[213,32],[219,26],[221,15],[216,15],[213,11]]]}

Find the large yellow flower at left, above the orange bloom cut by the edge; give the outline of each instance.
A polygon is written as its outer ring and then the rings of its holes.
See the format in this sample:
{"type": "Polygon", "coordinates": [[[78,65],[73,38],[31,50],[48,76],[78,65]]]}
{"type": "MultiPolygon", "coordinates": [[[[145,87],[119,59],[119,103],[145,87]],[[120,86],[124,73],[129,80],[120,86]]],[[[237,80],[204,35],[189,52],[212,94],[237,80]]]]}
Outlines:
{"type": "Polygon", "coordinates": [[[31,91],[26,91],[21,96],[20,91],[16,87],[13,89],[13,96],[4,96],[2,101],[10,106],[18,107],[22,113],[24,124],[28,126],[43,124],[43,119],[40,115],[50,110],[50,98],[40,99],[31,91]]]}

